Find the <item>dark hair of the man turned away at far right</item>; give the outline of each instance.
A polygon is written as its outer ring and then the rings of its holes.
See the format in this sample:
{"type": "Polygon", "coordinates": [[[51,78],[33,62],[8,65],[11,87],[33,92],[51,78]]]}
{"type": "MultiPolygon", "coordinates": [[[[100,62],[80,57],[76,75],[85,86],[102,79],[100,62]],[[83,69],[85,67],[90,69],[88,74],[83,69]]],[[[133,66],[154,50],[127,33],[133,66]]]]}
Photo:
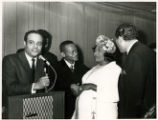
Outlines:
{"type": "Polygon", "coordinates": [[[137,38],[137,30],[134,25],[129,23],[121,24],[115,33],[116,38],[122,36],[124,40],[132,40],[137,38]]]}

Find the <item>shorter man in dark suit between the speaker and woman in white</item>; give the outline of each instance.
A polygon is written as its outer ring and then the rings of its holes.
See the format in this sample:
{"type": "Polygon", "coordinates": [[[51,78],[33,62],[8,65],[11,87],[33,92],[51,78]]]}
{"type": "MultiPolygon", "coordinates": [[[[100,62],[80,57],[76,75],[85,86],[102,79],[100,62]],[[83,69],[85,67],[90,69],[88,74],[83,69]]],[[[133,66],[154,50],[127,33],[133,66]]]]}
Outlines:
{"type": "Polygon", "coordinates": [[[58,62],[58,80],[56,90],[65,91],[65,118],[72,117],[75,108],[75,95],[71,91],[71,85],[81,84],[82,76],[88,68],[78,62],[78,50],[72,41],[64,41],[60,44],[60,52],[63,59],[58,62]]]}

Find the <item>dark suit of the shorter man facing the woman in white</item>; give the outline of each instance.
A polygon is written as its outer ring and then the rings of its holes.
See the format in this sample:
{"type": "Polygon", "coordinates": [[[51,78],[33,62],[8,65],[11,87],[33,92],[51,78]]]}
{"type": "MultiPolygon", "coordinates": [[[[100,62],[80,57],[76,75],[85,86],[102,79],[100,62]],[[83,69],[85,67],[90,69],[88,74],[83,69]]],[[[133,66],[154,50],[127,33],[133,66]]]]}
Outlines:
{"type": "Polygon", "coordinates": [[[78,62],[75,63],[75,70],[72,73],[65,61],[62,59],[58,62],[58,79],[55,86],[56,90],[65,91],[65,118],[69,119],[72,117],[75,108],[75,99],[70,85],[81,84],[82,76],[88,71],[88,68],[78,62]]]}

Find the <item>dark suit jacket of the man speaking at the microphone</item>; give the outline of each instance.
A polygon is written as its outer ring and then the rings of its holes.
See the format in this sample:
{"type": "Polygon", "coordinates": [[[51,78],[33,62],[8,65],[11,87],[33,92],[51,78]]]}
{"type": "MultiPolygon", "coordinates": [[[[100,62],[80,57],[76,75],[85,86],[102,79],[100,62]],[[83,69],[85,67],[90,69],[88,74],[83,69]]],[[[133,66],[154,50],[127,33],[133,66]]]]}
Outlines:
{"type": "MultiPolygon", "coordinates": [[[[35,81],[44,75],[44,63],[37,60],[35,81]]],[[[31,93],[32,76],[31,68],[24,51],[5,56],[2,68],[3,85],[7,95],[23,95],[31,93]]],[[[5,93],[6,94],[6,93],[5,93]]]]}

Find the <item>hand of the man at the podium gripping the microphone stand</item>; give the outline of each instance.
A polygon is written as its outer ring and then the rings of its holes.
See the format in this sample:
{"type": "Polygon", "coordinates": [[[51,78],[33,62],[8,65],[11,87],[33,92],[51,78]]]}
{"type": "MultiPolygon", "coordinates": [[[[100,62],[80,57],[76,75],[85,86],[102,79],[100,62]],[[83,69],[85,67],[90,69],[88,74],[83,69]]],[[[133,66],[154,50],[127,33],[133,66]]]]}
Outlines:
{"type": "Polygon", "coordinates": [[[50,84],[48,76],[41,77],[36,83],[34,83],[35,90],[44,89],[45,87],[48,87],[50,84]]]}

